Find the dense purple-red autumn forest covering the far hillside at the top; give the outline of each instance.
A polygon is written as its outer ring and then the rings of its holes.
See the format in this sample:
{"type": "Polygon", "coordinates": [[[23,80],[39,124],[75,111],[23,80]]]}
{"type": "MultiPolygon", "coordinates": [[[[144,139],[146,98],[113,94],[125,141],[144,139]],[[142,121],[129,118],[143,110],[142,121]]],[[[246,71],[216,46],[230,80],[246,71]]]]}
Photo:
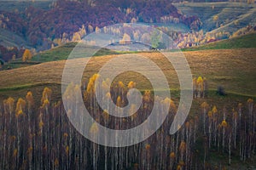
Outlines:
{"type": "MultiPolygon", "coordinates": [[[[193,29],[198,17],[186,17],[168,0],[162,1],[56,1],[49,9],[27,7],[13,12],[0,11],[0,27],[27,39],[33,47],[50,48],[57,38],[72,40],[84,26],[86,33],[96,27],[117,23],[180,22],[193,29]]],[[[198,26],[195,26],[198,23],[198,26]]]]}

